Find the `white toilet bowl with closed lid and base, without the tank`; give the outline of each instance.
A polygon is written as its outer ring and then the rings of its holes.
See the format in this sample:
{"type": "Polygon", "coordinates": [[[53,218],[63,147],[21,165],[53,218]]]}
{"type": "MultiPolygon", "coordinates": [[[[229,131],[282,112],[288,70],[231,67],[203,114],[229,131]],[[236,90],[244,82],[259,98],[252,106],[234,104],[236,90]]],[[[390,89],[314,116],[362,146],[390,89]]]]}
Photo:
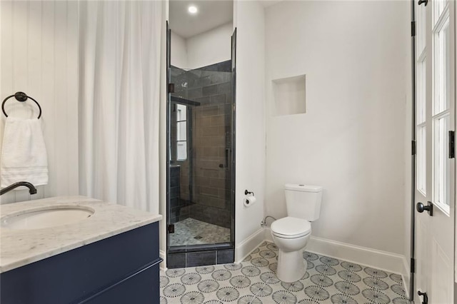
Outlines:
{"type": "Polygon", "coordinates": [[[311,223],[287,216],[271,224],[271,236],[279,250],[278,279],[292,283],[303,278],[308,266],[303,259],[303,250],[311,236],[311,223]]]}

